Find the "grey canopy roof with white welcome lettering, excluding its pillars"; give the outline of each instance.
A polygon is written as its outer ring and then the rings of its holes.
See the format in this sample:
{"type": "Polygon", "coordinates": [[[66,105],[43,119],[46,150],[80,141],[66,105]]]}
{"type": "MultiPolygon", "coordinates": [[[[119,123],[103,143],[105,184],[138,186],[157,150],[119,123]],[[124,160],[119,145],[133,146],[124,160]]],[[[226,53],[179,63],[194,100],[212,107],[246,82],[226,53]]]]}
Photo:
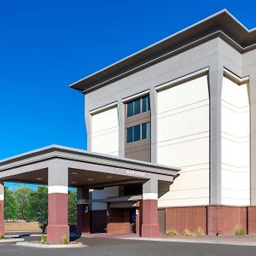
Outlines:
{"type": "Polygon", "coordinates": [[[70,187],[142,183],[150,178],[172,182],[179,171],[170,166],[53,145],[0,161],[0,181],[48,184],[48,170],[56,160],[55,179],[58,174],[61,176],[59,168],[68,168],[70,187]]]}

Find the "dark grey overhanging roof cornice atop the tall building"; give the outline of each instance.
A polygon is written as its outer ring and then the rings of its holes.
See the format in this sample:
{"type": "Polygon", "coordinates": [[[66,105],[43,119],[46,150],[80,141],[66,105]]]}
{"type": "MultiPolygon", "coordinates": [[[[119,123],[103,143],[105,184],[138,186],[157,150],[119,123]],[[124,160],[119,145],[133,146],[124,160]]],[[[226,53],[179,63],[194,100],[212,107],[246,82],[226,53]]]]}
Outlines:
{"type": "Polygon", "coordinates": [[[96,90],[139,69],[217,37],[223,38],[240,52],[256,48],[256,29],[248,30],[224,9],[113,63],[113,65],[80,79],[70,87],[83,93],[96,90]]]}

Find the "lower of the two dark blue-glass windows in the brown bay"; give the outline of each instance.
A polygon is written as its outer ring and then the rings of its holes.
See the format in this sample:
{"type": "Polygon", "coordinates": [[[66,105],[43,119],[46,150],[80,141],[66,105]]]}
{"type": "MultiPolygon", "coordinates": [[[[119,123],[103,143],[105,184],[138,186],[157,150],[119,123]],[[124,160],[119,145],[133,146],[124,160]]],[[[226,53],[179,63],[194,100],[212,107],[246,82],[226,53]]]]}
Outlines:
{"type": "Polygon", "coordinates": [[[126,142],[134,143],[150,137],[150,122],[127,128],[126,142]]]}

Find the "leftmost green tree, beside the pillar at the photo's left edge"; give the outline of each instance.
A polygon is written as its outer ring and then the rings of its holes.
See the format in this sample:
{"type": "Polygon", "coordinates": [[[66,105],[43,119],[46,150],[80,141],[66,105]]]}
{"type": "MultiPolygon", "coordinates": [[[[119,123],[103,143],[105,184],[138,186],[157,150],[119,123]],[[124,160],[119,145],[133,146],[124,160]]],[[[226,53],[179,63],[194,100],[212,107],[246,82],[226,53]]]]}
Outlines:
{"type": "Polygon", "coordinates": [[[17,218],[17,202],[13,192],[7,186],[4,186],[4,218],[17,218]]]}

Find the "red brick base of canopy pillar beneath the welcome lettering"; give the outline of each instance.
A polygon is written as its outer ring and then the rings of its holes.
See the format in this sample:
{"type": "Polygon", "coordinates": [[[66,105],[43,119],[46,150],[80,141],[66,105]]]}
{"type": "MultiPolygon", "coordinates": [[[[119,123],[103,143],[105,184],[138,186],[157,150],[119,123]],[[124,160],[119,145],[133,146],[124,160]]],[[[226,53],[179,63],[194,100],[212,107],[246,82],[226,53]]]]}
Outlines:
{"type": "Polygon", "coordinates": [[[159,236],[157,200],[143,200],[142,236],[159,236]]]}

